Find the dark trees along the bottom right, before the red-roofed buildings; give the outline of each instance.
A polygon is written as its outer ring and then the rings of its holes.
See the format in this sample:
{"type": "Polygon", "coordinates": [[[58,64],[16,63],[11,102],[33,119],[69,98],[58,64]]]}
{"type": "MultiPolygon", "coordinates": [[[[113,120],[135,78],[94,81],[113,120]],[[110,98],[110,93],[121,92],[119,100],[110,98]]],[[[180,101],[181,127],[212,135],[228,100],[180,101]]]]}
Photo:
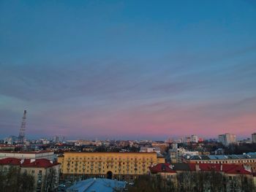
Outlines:
{"type": "Polygon", "coordinates": [[[140,177],[129,192],[254,192],[252,178],[226,177],[218,172],[182,172],[173,180],[161,177],[140,177]]]}

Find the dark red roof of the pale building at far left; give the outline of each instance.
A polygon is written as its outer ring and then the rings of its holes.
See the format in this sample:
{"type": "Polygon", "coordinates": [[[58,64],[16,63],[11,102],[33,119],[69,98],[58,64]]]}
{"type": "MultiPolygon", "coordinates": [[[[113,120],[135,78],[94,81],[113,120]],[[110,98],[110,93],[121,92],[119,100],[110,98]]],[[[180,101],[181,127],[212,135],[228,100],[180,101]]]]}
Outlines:
{"type": "Polygon", "coordinates": [[[59,163],[53,163],[48,159],[40,158],[36,160],[32,159],[20,159],[20,158],[3,158],[0,159],[0,165],[18,165],[22,167],[42,167],[48,168],[51,166],[56,166],[59,163]]]}

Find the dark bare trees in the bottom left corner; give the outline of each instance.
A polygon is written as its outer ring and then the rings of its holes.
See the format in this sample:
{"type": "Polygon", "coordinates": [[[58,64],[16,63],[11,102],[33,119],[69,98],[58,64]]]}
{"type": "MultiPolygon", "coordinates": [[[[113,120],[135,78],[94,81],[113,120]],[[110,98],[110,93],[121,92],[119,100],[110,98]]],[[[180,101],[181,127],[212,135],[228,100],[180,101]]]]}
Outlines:
{"type": "Polygon", "coordinates": [[[19,168],[10,167],[7,171],[0,170],[0,192],[32,192],[34,177],[21,173],[19,168]]]}

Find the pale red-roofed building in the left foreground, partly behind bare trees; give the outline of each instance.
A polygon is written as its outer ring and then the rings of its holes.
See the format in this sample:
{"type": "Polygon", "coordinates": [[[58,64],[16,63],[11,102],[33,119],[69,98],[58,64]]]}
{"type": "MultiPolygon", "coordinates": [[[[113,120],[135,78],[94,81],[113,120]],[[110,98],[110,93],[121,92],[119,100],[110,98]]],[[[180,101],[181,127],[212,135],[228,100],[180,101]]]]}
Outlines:
{"type": "Polygon", "coordinates": [[[34,188],[35,191],[56,191],[59,185],[59,168],[60,164],[53,163],[48,159],[20,159],[20,158],[3,158],[0,159],[0,169],[4,172],[10,168],[10,166],[16,166],[20,169],[20,172],[26,172],[34,176],[34,188]],[[50,172],[55,172],[50,174],[50,172]],[[45,178],[48,177],[53,185],[49,186],[45,178]],[[48,190],[46,190],[48,188],[48,190]]]}

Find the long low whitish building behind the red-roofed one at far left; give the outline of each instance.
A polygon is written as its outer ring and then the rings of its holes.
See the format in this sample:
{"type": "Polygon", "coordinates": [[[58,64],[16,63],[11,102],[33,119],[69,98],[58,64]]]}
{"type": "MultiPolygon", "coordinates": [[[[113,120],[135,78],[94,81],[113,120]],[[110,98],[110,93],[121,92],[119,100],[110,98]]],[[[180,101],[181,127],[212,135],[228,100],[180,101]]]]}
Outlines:
{"type": "Polygon", "coordinates": [[[0,151],[0,159],[1,158],[31,158],[31,159],[39,159],[46,158],[50,161],[55,160],[55,155],[53,151],[49,150],[41,150],[41,151],[0,151]]]}

